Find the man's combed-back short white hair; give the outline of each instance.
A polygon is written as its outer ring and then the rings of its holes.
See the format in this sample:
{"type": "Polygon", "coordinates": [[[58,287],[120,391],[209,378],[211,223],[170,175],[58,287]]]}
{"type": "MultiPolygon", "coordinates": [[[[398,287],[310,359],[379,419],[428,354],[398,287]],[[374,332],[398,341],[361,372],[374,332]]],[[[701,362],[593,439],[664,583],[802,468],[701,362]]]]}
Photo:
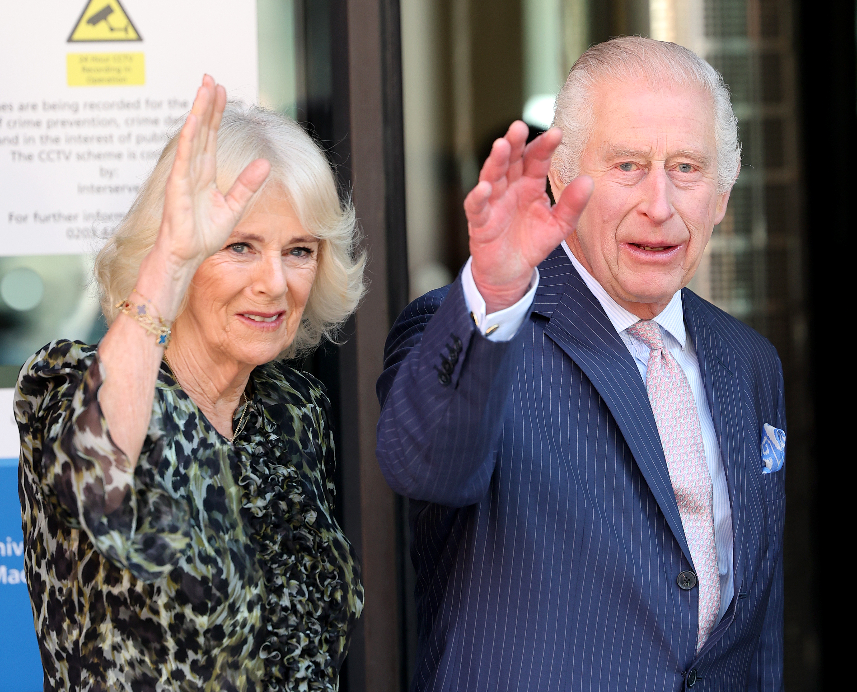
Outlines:
{"type": "Polygon", "coordinates": [[[621,83],[641,77],[655,88],[679,86],[708,92],[714,109],[717,191],[731,189],[740,170],[741,147],[738,118],[722,76],[683,46],[639,36],[594,45],[572,66],[554,110],[554,126],[562,130],[562,142],[554,152],[552,165],[560,182],[570,182],[580,172],[584,148],[595,126],[596,86],[604,81],[621,83]]]}

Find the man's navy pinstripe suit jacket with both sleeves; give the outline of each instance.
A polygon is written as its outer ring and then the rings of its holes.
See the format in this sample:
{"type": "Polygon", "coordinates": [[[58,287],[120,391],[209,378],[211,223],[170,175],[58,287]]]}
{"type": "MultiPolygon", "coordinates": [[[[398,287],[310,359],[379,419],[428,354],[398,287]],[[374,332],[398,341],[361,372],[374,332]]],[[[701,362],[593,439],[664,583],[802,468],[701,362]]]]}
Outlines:
{"type": "Polygon", "coordinates": [[[676,583],[692,563],[643,380],[564,251],[539,270],[510,342],[475,330],[460,279],[411,303],[387,341],[378,459],[411,498],[411,689],[782,689],[784,474],[762,474],[760,455],[764,423],[786,427],[776,350],[683,291],[734,528],[734,600],[697,655],[698,590],[676,583]]]}

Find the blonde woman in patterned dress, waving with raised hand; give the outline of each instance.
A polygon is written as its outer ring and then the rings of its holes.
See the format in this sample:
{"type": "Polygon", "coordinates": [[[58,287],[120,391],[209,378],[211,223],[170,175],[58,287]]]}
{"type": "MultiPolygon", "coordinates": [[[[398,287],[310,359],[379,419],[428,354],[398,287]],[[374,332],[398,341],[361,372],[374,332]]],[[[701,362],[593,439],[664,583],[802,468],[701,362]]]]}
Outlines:
{"type": "Polygon", "coordinates": [[[96,277],[109,331],[27,361],[26,571],[45,689],[337,689],[363,607],[321,384],[285,364],[363,292],[294,122],[206,76],[96,277]]]}

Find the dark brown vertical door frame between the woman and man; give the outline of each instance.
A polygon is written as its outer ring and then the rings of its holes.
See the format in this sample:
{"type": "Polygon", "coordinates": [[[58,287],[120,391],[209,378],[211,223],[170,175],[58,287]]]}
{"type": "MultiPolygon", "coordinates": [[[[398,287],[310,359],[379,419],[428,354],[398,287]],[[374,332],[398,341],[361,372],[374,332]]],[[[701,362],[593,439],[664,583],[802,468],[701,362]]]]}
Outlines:
{"type": "Polygon", "coordinates": [[[387,486],[375,458],[375,381],[387,332],[408,297],[399,0],[304,0],[300,11],[305,75],[325,82],[307,84],[304,117],[357,209],[369,258],[369,292],[343,343],[328,345],[308,364],[333,403],[337,515],[360,558],[365,588],[340,689],[393,692],[409,683],[406,546],[402,498],[387,486]]]}

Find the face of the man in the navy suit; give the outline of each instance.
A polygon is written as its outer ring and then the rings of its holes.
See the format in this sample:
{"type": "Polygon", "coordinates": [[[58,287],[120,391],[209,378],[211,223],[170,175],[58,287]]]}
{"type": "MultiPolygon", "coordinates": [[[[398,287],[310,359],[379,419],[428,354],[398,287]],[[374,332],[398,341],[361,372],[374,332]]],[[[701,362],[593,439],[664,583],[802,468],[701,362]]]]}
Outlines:
{"type": "MultiPolygon", "coordinates": [[[[726,212],[712,110],[701,90],[654,90],[644,80],[596,87],[580,170],[595,188],[568,242],[614,300],[641,317],[659,313],[690,281],[726,212]]],[[[551,183],[559,194],[553,171],[551,183]]]]}

